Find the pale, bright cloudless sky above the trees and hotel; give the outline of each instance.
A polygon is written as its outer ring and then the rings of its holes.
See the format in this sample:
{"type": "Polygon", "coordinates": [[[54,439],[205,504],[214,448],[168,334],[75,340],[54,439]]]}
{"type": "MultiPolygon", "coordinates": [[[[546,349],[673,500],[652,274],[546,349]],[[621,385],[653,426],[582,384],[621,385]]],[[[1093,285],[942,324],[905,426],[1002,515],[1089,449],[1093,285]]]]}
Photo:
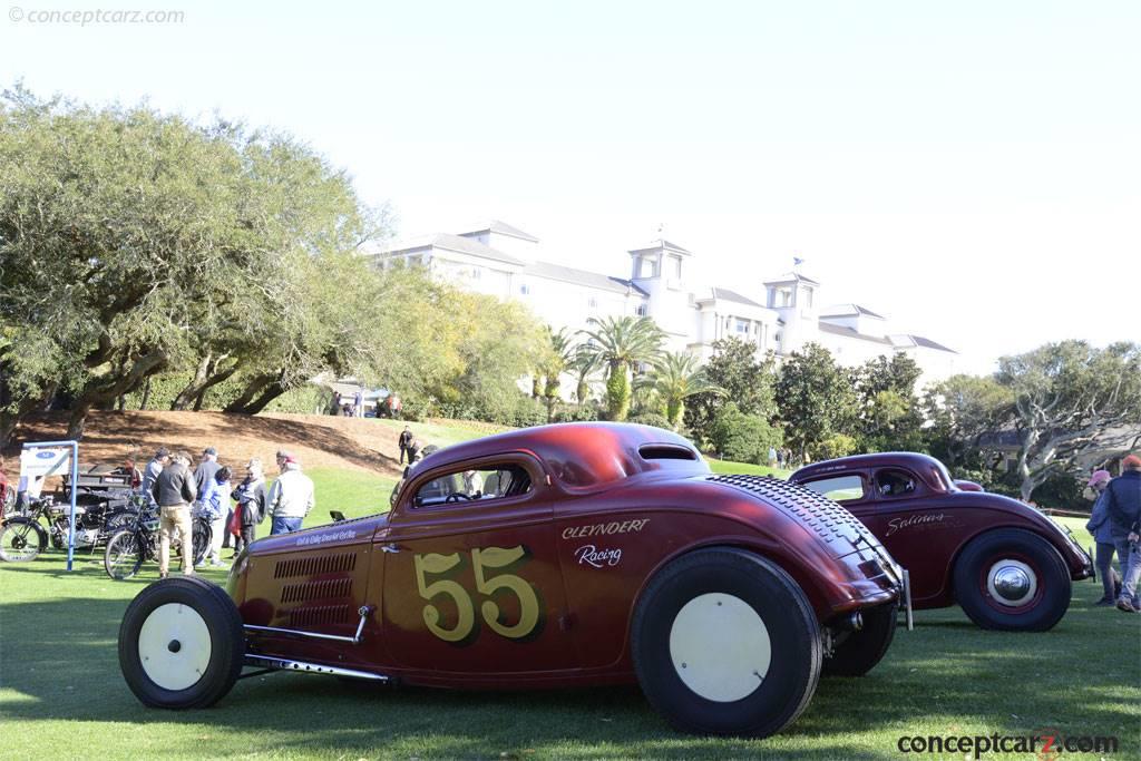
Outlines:
{"type": "Polygon", "coordinates": [[[402,235],[495,217],[625,275],[664,222],[754,291],[799,252],[976,370],[1141,338],[1141,2],[235,6],[16,0],[0,81],[288,130],[402,235]]]}

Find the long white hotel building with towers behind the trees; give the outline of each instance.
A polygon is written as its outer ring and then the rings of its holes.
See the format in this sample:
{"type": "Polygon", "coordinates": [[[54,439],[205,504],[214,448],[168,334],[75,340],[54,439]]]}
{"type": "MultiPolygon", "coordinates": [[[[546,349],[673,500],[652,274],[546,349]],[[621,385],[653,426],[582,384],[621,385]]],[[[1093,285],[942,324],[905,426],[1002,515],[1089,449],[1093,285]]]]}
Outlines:
{"type": "Polygon", "coordinates": [[[696,256],[665,240],[628,252],[629,276],[617,277],[544,261],[539,238],[501,221],[458,234],[397,243],[377,254],[428,267],[461,288],[517,299],[558,330],[586,326],[590,317],[652,317],[672,351],[702,359],[713,341],[736,335],[759,356],[783,357],[806,343],[827,348],[844,365],[907,354],[923,370],[920,384],[955,372],[957,353],[921,335],[889,330],[887,318],[856,303],[826,305],[822,284],[800,273],[733,289],[696,284],[696,256]]]}

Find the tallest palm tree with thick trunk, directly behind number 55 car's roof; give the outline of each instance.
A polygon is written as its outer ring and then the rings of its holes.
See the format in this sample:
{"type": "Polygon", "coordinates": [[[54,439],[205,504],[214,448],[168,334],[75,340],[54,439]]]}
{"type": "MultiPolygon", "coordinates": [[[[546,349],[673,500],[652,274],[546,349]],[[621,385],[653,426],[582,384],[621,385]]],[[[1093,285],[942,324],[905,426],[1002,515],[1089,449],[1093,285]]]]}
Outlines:
{"type": "Polygon", "coordinates": [[[586,324],[593,329],[582,331],[588,347],[606,365],[607,416],[623,421],[630,412],[630,372],[658,358],[665,334],[648,317],[591,317],[586,324]]]}

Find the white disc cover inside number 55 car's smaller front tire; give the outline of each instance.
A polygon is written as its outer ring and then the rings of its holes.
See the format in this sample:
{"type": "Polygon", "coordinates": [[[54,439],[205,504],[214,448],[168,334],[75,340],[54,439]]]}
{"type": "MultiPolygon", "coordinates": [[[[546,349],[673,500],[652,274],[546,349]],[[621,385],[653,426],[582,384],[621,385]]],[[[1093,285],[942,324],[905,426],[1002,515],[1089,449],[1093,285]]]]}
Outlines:
{"type": "Polygon", "coordinates": [[[196,610],[179,602],[160,605],[139,630],[143,671],[163,689],[183,690],[210,665],[210,630],[196,610]]]}

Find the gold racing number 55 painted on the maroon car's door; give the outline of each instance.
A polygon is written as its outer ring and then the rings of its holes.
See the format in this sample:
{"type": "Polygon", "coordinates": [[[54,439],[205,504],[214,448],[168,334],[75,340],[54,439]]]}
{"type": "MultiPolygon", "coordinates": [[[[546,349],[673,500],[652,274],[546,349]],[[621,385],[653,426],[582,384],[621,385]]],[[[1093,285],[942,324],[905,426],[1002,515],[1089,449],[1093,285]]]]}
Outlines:
{"type": "MultiPolygon", "coordinates": [[[[479,606],[484,622],[501,637],[523,639],[539,624],[539,597],[535,589],[524,578],[515,574],[488,575],[487,569],[507,568],[518,562],[527,554],[521,544],[511,548],[487,547],[471,551],[471,567],[476,576],[476,591],[487,598],[479,606]],[[519,621],[504,624],[500,621],[501,610],[492,596],[505,590],[519,599],[519,621]]],[[[471,635],[476,626],[475,606],[468,590],[451,578],[440,578],[428,583],[428,576],[438,576],[456,569],[461,564],[459,552],[452,554],[416,554],[413,556],[416,572],[416,589],[420,597],[428,600],[423,608],[424,625],[436,637],[445,642],[462,642],[471,635]],[[455,602],[455,625],[445,629],[440,625],[440,612],[432,600],[440,594],[452,598],[455,602]]]]}

